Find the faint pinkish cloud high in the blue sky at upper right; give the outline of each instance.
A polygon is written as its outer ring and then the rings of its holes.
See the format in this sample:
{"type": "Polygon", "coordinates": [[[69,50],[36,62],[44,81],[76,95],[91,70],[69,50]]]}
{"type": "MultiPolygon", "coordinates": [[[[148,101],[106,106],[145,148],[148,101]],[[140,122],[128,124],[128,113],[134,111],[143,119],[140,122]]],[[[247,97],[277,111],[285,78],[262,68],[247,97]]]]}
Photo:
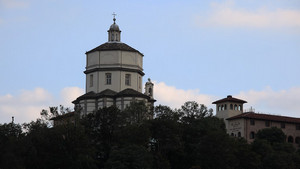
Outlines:
{"type": "Polygon", "coordinates": [[[300,11],[270,10],[265,7],[249,10],[237,7],[234,1],[212,3],[208,16],[196,16],[199,26],[245,28],[300,28],[300,11]]]}

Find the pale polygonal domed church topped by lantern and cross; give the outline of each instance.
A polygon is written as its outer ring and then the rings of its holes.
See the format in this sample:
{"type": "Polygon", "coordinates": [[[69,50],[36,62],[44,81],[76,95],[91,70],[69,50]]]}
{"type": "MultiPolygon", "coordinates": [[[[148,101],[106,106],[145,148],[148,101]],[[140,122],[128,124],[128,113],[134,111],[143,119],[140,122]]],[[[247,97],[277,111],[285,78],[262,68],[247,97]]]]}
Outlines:
{"type": "Polygon", "coordinates": [[[108,42],[86,52],[86,93],[72,102],[75,109],[80,108],[84,115],[112,105],[123,110],[133,101],[153,106],[156,100],[150,79],[142,93],[144,55],[121,42],[115,17],[107,32],[108,42]]]}

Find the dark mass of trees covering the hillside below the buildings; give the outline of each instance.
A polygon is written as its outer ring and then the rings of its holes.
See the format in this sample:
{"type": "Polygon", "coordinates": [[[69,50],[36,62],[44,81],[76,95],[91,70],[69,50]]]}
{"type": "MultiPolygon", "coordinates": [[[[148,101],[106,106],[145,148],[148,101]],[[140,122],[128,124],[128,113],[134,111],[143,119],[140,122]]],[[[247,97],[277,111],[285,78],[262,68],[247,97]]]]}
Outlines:
{"type": "MultiPolygon", "coordinates": [[[[99,109],[75,123],[48,127],[0,125],[1,169],[297,169],[299,152],[281,129],[257,133],[252,144],[226,134],[222,120],[196,102],[181,109],[144,103],[99,109]]],[[[47,116],[47,112],[42,112],[47,116]]]]}

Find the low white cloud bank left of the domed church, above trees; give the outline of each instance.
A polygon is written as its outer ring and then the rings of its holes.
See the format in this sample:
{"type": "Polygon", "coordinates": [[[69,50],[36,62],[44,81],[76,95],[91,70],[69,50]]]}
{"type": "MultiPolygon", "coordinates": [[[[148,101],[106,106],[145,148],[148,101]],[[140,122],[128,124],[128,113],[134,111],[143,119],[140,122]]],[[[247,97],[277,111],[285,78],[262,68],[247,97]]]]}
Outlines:
{"type": "Polygon", "coordinates": [[[72,101],[83,94],[83,89],[66,87],[61,90],[59,97],[54,97],[43,88],[22,90],[17,95],[0,96],[0,123],[9,123],[15,117],[16,123],[30,122],[40,117],[42,109],[49,106],[64,105],[73,108],[72,101]]]}

